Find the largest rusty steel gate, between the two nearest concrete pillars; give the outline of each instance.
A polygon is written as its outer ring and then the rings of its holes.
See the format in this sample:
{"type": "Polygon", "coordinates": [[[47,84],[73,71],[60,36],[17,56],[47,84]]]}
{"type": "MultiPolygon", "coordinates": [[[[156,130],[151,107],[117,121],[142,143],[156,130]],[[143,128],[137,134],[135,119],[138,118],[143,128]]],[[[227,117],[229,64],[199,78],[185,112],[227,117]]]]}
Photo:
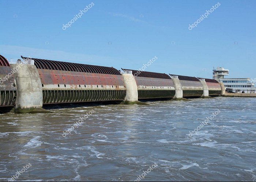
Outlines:
{"type": "Polygon", "coordinates": [[[43,104],[125,98],[124,80],[113,67],[31,59],[41,79],[43,104]]]}

